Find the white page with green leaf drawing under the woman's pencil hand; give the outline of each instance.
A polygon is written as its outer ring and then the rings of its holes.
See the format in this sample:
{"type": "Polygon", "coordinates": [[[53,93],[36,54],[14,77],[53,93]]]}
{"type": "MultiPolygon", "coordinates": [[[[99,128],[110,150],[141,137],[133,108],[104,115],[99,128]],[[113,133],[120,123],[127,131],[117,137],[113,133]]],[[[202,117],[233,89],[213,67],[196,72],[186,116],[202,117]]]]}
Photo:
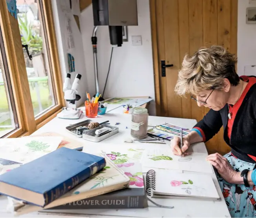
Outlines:
{"type": "Polygon", "coordinates": [[[201,173],[212,173],[212,167],[205,160],[206,153],[190,152],[185,157],[174,155],[171,149],[149,149],[144,151],[143,167],[174,169],[201,173]]]}

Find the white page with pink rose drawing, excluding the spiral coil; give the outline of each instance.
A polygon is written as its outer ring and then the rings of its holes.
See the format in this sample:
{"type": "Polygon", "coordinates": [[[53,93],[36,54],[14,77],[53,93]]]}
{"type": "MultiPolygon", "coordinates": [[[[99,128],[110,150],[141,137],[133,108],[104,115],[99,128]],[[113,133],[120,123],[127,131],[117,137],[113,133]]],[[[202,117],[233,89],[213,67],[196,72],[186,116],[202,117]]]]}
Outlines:
{"type": "Polygon", "coordinates": [[[155,191],[162,195],[219,198],[211,175],[155,170],[155,191]]]}

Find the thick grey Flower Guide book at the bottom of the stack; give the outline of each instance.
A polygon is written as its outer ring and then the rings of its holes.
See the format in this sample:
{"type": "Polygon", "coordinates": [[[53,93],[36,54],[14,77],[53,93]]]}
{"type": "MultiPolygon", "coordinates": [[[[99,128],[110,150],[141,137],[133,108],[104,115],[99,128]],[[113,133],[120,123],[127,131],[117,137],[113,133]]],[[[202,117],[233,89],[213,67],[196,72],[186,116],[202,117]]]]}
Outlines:
{"type": "Polygon", "coordinates": [[[130,185],[126,189],[113,191],[104,195],[86,198],[47,210],[49,212],[73,209],[126,209],[147,207],[142,166],[139,162],[119,165],[119,169],[130,178],[130,185]]]}

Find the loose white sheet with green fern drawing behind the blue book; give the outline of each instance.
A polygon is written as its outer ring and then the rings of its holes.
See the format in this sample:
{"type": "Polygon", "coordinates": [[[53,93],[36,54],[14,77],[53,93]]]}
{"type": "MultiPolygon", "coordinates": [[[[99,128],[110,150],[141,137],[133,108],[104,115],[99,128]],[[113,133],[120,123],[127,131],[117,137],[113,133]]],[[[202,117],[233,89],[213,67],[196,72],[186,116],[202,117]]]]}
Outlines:
{"type": "Polygon", "coordinates": [[[26,164],[55,151],[62,137],[21,137],[0,139],[0,158],[26,164]]]}

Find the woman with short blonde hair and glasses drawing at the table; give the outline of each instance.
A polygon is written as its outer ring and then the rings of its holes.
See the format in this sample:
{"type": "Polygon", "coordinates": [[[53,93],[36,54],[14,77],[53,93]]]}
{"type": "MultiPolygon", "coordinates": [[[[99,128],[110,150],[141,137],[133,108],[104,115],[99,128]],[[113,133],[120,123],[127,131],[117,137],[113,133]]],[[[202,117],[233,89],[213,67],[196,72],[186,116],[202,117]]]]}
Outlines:
{"type": "Polygon", "coordinates": [[[245,208],[253,205],[248,200],[251,195],[247,198],[243,190],[254,191],[252,186],[256,184],[256,77],[239,77],[236,63],[235,55],[221,46],[203,47],[185,56],[175,91],[179,95],[190,93],[198,106],[210,110],[183,138],[182,149],[179,137],[172,139],[171,147],[174,154],[186,156],[191,144],[207,142],[223,126],[223,137],[231,152],[224,156],[210,154],[207,160],[218,171],[216,176],[230,215],[253,217],[255,213],[245,208]]]}

